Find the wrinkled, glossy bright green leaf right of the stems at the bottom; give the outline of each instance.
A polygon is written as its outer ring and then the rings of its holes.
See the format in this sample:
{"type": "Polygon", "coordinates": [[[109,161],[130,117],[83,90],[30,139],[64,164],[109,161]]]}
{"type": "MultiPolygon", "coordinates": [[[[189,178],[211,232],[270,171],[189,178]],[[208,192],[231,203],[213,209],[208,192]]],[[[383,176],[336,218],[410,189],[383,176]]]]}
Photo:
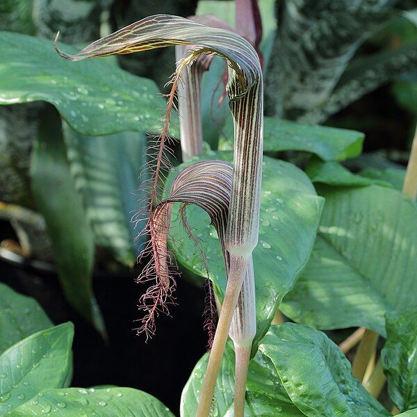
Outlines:
{"type": "Polygon", "coordinates": [[[259,349],[306,416],[391,416],[352,376],[349,361],[324,333],[294,323],[272,326],[259,349]]]}

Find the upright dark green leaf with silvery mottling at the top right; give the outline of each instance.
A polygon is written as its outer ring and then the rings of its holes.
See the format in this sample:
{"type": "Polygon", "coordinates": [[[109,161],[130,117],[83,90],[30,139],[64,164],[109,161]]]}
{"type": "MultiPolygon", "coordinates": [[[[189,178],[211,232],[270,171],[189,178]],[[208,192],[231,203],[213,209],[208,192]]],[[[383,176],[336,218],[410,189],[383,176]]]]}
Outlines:
{"type": "Polygon", "coordinates": [[[286,0],[279,10],[266,108],[293,118],[331,94],[352,56],[390,15],[390,0],[286,0]]]}

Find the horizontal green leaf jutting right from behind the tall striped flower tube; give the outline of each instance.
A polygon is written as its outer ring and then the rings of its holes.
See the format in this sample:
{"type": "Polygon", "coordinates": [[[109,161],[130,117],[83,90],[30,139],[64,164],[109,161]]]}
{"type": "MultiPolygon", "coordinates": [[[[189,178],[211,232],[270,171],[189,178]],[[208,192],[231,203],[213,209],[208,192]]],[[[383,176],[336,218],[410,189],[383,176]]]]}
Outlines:
{"type": "MultiPolygon", "coordinates": [[[[357,131],[312,126],[277,117],[265,117],[263,131],[264,152],[311,152],[324,161],[343,161],[358,156],[365,138],[363,133],[357,131]]],[[[224,136],[233,138],[233,126],[230,123],[224,126],[224,136]]]]}

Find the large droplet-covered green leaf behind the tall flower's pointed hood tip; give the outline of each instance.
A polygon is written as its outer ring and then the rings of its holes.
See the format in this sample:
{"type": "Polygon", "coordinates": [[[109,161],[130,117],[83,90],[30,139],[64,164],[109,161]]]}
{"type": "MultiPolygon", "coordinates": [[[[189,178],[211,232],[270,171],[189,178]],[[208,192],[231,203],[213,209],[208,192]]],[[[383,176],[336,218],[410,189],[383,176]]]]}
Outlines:
{"type": "Polygon", "coordinates": [[[7,63],[0,67],[0,104],[48,101],[85,135],[150,131],[165,107],[153,81],[106,60],[70,63],[52,40],[0,32],[0,55],[7,63]]]}

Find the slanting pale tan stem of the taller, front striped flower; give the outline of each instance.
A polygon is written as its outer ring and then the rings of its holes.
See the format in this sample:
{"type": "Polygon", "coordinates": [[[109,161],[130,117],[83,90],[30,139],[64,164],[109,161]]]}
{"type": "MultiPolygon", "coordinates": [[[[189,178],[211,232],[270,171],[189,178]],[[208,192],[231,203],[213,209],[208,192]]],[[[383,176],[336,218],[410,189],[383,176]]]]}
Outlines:
{"type": "Polygon", "coordinates": [[[215,382],[222,363],[224,346],[227,342],[231,319],[233,318],[236,304],[238,304],[238,297],[242,288],[243,278],[245,277],[247,261],[248,259],[243,256],[230,256],[226,293],[224,294],[218,326],[215,330],[213,346],[208,357],[206,376],[204,377],[202,395],[199,399],[196,417],[208,417],[210,415],[215,382]]]}

